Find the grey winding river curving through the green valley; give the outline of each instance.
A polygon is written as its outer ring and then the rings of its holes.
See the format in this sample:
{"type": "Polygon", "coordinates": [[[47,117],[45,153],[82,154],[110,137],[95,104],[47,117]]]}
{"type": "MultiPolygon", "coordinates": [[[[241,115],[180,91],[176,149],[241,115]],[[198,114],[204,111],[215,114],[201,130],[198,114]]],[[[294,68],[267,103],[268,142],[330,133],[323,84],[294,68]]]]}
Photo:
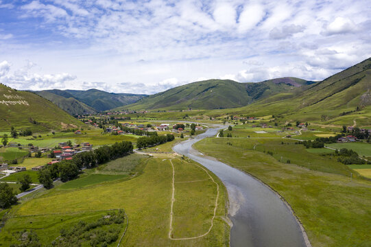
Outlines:
{"type": "Polygon", "coordinates": [[[294,215],[276,193],[259,180],[213,158],[203,157],[192,145],[213,137],[225,127],[209,128],[194,139],[182,141],[173,150],[204,165],[222,180],[228,191],[230,246],[306,246],[294,215]]]}

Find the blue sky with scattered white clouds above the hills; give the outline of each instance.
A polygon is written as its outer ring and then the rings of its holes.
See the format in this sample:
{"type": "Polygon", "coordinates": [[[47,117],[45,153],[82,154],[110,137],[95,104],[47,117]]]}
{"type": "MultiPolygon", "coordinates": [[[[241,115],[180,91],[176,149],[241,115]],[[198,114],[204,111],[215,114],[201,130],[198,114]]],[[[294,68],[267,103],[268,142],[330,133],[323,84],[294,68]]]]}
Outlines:
{"type": "Polygon", "coordinates": [[[371,56],[369,0],[0,0],[0,83],[153,94],[323,80],[371,56]]]}

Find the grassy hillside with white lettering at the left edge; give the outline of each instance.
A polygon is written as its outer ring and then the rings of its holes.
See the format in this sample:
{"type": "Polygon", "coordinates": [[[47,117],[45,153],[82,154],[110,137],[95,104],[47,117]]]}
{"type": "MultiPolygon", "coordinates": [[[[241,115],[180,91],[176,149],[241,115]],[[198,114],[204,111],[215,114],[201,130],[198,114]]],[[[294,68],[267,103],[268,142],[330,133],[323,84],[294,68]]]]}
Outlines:
{"type": "Polygon", "coordinates": [[[49,100],[26,91],[16,91],[0,84],[0,130],[29,128],[34,131],[77,128],[80,121],[49,100]]]}

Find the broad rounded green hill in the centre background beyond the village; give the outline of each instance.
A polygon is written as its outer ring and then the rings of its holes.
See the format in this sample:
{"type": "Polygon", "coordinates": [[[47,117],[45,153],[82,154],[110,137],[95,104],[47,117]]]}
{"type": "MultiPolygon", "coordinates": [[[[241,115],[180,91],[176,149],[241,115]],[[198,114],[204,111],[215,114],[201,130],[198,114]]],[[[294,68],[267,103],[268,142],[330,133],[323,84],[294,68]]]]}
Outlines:
{"type": "MultiPolygon", "coordinates": [[[[138,102],[125,106],[139,109],[215,109],[236,108],[252,104],[270,95],[297,91],[307,87],[308,82],[298,78],[278,78],[264,82],[239,83],[232,80],[206,80],[177,86],[162,93],[144,97],[138,102]]],[[[122,109],[121,107],[117,110],[122,109]]]]}

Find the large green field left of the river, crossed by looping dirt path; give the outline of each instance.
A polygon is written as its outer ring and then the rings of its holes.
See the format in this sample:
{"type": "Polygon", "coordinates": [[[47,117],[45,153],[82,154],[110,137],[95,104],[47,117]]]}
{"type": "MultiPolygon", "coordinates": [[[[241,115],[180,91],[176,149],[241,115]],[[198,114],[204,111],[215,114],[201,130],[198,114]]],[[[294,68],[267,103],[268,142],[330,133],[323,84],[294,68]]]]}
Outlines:
{"type": "MultiPolygon", "coordinates": [[[[138,156],[139,154],[136,154],[134,159],[139,158],[138,156]]],[[[207,178],[205,172],[195,163],[180,158],[173,158],[172,161],[176,182],[173,237],[201,235],[211,224],[216,199],[215,184],[210,179],[204,180],[207,178]],[[189,180],[202,181],[177,183],[189,180]]],[[[164,158],[141,158],[139,165],[143,173],[130,180],[105,180],[104,183],[95,180],[96,183],[90,183],[92,176],[97,175],[95,172],[119,170],[117,163],[108,163],[100,171],[92,169],[88,171],[88,176],[40,192],[32,200],[24,200],[22,204],[14,207],[12,217],[0,232],[0,242],[4,246],[16,242],[14,233],[25,228],[33,229],[43,244],[51,243],[60,235],[61,228],[66,228],[79,220],[95,219],[101,215],[101,212],[84,213],[84,211],[124,208],[130,226],[121,246],[228,246],[230,230],[222,220],[226,215],[226,192],[215,176],[213,178],[221,189],[217,215],[211,232],[205,237],[196,239],[171,240],[168,236],[173,172],[171,163],[164,158]],[[75,189],[62,188],[71,186],[71,183],[75,183],[73,185],[75,189]]],[[[117,246],[117,243],[110,246],[117,246]]]]}

